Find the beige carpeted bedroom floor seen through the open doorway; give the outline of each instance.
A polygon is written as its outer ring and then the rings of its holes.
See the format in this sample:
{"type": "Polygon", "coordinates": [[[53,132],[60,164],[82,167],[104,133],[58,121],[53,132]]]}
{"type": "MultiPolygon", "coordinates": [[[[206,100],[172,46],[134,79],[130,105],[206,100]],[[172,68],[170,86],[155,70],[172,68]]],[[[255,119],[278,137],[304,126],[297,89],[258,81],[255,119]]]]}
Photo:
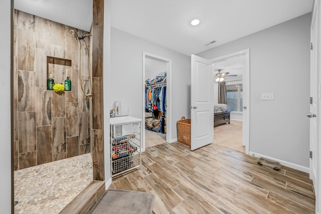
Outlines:
{"type": "Polygon", "coordinates": [[[242,146],[242,121],[231,120],[230,124],[215,126],[214,144],[245,153],[245,146],[242,146]]]}

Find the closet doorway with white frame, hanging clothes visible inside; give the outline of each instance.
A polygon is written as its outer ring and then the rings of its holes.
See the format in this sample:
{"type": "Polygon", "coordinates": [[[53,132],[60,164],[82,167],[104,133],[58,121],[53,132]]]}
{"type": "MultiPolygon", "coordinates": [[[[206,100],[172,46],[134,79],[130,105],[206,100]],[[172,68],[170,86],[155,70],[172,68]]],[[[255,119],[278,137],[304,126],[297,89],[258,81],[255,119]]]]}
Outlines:
{"type": "Polygon", "coordinates": [[[143,52],[142,151],[170,141],[172,62],[143,52]]]}

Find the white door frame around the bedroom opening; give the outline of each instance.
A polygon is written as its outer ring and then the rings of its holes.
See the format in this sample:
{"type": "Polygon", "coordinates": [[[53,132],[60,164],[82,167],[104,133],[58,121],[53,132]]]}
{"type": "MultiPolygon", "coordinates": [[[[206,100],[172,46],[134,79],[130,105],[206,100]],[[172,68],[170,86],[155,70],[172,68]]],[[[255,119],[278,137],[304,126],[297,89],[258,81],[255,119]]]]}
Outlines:
{"type": "MultiPolygon", "coordinates": [[[[221,57],[214,58],[212,61],[215,64],[217,61],[221,61],[227,58],[235,57],[241,54],[246,56],[246,68],[243,72],[243,106],[246,106],[246,113],[242,115],[243,133],[242,133],[242,145],[245,146],[245,154],[249,154],[250,151],[250,49],[244,49],[238,52],[227,54],[221,57]],[[245,99],[244,99],[244,95],[245,99]]],[[[244,111],[243,111],[244,112],[244,111]]],[[[215,136],[214,136],[215,138],[215,136]]]]}

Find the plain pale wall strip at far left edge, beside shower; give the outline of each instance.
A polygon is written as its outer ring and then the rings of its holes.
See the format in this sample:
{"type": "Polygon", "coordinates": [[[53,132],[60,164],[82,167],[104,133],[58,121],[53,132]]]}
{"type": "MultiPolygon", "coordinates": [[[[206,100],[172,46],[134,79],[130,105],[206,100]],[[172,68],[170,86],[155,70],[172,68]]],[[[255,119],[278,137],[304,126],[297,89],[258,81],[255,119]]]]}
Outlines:
{"type": "Polygon", "coordinates": [[[2,87],[0,105],[0,207],[1,213],[11,213],[11,1],[2,1],[0,20],[2,36],[0,40],[0,85],[2,87]]]}

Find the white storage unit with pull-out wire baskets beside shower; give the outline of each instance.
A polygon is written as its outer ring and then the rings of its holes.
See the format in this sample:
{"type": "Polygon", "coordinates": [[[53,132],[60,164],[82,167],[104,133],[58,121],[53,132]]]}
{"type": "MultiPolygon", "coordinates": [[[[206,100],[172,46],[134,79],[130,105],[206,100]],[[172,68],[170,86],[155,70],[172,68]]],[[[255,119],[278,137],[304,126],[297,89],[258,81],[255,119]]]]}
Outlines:
{"type": "Polygon", "coordinates": [[[110,118],[110,169],[116,176],[141,165],[141,119],[110,118]]]}

